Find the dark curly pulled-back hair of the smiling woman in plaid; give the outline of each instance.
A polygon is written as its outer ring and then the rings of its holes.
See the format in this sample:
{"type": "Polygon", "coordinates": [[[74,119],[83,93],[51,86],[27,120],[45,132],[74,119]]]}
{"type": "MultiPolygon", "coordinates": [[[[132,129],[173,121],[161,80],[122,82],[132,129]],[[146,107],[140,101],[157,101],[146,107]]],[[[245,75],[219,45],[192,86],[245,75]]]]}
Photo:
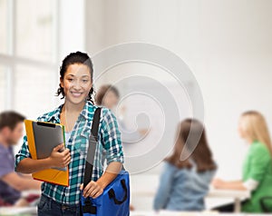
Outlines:
{"type": "MultiPolygon", "coordinates": [[[[86,65],[89,69],[90,69],[90,72],[91,72],[91,80],[93,78],[93,66],[92,66],[92,60],[91,58],[89,57],[88,54],[85,54],[85,53],[82,53],[82,52],[79,52],[77,51],[76,53],[71,53],[71,54],[68,54],[64,59],[63,59],[63,64],[62,66],[60,67],[60,76],[61,78],[63,79],[64,77],[64,74],[66,73],[67,71],[67,68],[69,65],[71,64],[84,64],[86,65]]],[[[91,88],[89,94],[88,94],[88,97],[87,97],[87,101],[92,101],[92,93],[94,93],[94,90],[93,90],[93,87],[91,88]]],[[[62,94],[62,99],[65,97],[65,93],[64,93],[64,90],[63,90],[63,87],[61,85],[61,83],[59,84],[59,88],[56,92],[56,96],[59,96],[62,94]]]]}

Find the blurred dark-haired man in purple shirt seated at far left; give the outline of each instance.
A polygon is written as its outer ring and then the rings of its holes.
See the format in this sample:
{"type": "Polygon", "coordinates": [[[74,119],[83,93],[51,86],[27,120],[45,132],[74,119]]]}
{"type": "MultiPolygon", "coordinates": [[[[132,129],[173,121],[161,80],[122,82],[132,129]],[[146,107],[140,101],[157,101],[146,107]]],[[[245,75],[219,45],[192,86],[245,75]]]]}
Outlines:
{"type": "Polygon", "coordinates": [[[0,201],[13,205],[21,191],[39,190],[41,183],[15,172],[13,145],[24,133],[24,116],[15,112],[0,113],[0,201]]]}

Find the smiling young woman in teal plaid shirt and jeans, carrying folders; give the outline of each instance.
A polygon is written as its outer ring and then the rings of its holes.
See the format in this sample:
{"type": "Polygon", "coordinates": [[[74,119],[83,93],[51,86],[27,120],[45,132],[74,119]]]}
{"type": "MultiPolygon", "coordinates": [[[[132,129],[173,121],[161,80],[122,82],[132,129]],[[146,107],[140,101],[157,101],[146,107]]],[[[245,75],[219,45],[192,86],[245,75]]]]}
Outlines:
{"type": "MultiPolygon", "coordinates": [[[[97,108],[92,104],[92,61],[87,54],[76,52],[63,60],[60,70],[60,88],[57,95],[63,95],[64,103],[38,121],[62,123],[65,126],[65,150],[63,144],[55,147],[50,157],[33,160],[27,140],[16,155],[16,171],[33,173],[52,167],[69,166],[69,187],[44,182],[42,198],[38,204],[38,215],[80,215],[80,196],[83,189],[83,172],[91,133],[92,117],[97,108]]],[[[97,198],[103,189],[121,171],[123,153],[121,135],[115,116],[102,108],[98,144],[93,164],[92,182],[83,191],[83,196],[97,198]],[[102,167],[102,151],[106,152],[108,166],[102,167]]]]}

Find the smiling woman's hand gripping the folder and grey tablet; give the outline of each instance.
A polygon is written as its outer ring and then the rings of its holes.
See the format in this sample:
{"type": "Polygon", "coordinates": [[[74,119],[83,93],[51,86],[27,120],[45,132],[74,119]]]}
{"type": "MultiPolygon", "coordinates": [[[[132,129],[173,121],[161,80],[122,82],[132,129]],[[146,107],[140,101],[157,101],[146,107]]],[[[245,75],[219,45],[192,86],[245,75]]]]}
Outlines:
{"type": "Polygon", "coordinates": [[[66,167],[71,161],[70,150],[64,150],[64,145],[60,144],[53,148],[49,160],[51,163],[51,167],[66,167]]]}

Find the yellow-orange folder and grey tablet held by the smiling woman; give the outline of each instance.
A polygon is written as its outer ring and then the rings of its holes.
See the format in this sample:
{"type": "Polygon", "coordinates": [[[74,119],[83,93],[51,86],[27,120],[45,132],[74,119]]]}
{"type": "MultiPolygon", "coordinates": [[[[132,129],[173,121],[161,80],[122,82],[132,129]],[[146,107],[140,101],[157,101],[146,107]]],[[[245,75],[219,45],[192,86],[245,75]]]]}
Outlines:
{"type": "MultiPolygon", "coordinates": [[[[59,123],[44,123],[24,120],[29,152],[32,159],[39,160],[50,156],[53,148],[64,143],[64,126],[59,123]]],[[[35,180],[69,186],[69,169],[53,168],[32,174],[35,180]]]]}

